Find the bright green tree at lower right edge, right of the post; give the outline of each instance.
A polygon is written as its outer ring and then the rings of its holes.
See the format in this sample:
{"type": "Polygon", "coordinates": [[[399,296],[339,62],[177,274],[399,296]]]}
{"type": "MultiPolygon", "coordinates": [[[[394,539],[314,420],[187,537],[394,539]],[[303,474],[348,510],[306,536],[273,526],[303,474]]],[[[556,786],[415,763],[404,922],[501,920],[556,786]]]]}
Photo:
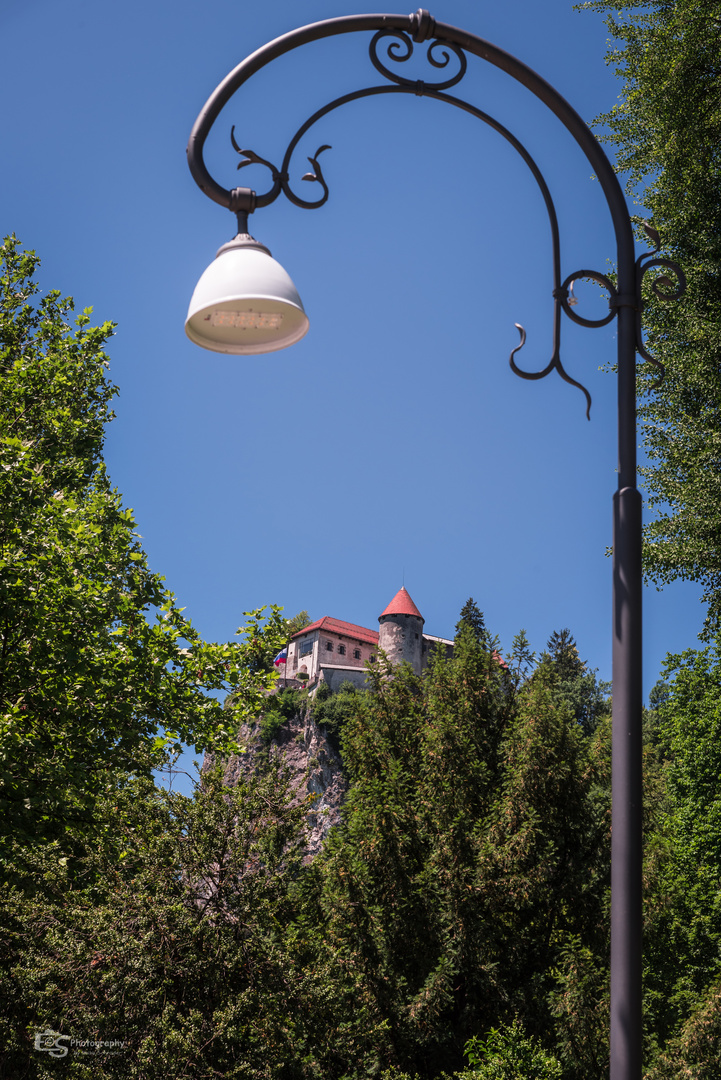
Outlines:
{"type": "Polygon", "coordinates": [[[666,787],[649,860],[650,1039],[664,1047],[721,978],[721,647],[669,657],[658,706],[666,787]]]}

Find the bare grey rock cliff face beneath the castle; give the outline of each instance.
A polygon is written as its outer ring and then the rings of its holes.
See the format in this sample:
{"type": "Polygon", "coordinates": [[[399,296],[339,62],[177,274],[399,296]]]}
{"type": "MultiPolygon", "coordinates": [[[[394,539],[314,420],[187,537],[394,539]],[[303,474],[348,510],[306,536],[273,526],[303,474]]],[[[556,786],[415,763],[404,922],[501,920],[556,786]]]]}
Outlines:
{"type": "MultiPolygon", "coordinates": [[[[348,789],[340,755],[310,710],[287,720],[270,743],[261,740],[257,724],[244,724],[239,742],[247,751],[228,759],[223,774],[227,784],[235,785],[243,773],[253,774],[262,767],[268,754],[287,769],[297,801],[314,796],[313,809],[308,814],[307,860],[310,861],[323,847],[328,832],[340,824],[340,808],[348,789]]],[[[206,755],[203,769],[212,765],[213,759],[206,755]]]]}

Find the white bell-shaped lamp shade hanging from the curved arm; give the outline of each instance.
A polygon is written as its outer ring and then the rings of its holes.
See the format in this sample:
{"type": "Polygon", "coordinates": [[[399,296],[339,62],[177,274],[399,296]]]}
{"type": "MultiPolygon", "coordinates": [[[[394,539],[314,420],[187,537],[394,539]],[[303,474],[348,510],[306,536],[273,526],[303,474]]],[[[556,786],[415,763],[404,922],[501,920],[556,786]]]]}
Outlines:
{"type": "Polygon", "coordinates": [[[215,352],[273,352],[308,332],[298,289],[280,262],[251,237],[225,244],[190,300],[186,334],[215,352]]]}

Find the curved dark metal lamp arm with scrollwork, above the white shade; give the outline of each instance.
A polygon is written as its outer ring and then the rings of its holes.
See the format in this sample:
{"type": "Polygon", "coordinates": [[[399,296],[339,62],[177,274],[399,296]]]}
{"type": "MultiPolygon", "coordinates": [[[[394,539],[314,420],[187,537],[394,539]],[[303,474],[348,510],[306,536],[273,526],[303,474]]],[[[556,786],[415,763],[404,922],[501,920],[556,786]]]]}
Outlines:
{"type": "MultiPolygon", "coordinates": [[[[584,321],[580,316],[572,312],[571,307],[568,302],[568,287],[561,285],[560,278],[560,254],[558,245],[558,227],[556,222],[556,213],[550,200],[550,194],[547,189],[543,177],[540,174],[540,170],[533,162],[532,158],[528,151],[518,143],[518,140],[507,132],[503,125],[499,124],[492,118],[488,117],[481,110],[477,109],[475,106],[467,102],[463,102],[457,97],[452,97],[445,93],[446,90],[458,83],[465,73],[466,57],[465,53],[472,53],[479,58],[493,64],[501,70],[508,73],[512,78],[516,79],[518,82],[527,86],[536,97],[539,97],[552,111],[558,117],[559,120],[566,125],[566,127],[573,135],[575,140],[581,146],[582,150],[586,154],[589,164],[591,165],[594,173],[597,175],[601,187],[604,191],[607,204],[611,212],[614,231],[616,233],[616,257],[618,266],[618,282],[617,288],[612,288],[611,291],[611,313],[609,319],[614,318],[618,314],[620,322],[627,320],[630,312],[624,312],[623,308],[623,297],[632,297],[631,307],[634,311],[636,310],[636,285],[635,285],[635,254],[634,254],[634,237],[632,229],[630,225],[630,219],[628,212],[626,210],[626,203],[616,179],[616,176],[611,167],[608,158],[606,157],[603,150],[601,149],[598,140],[588,130],[586,124],[583,122],[581,117],[575,112],[575,110],[566,102],[557,91],[550,86],[544,79],[542,79],[536,72],[534,72],[527,65],[522,64],[516,57],[503,50],[498,49],[490,42],[477,38],[475,35],[471,35],[465,30],[458,29],[455,27],[449,26],[444,23],[436,22],[427,11],[419,10],[412,15],[353,15],[353,16],[342,16],[340,18],[326,19],[321,23],[314,23],[309,26],[300,27],[290,33],[283,35],[281,38],[276,38],[274,41],[269,42],[262,49],[257,50],[250,56],[248,56],[242,64],[230,72],[229,76],[220,83],[220,85],[210,95],[205,106],[201,110],[201,113],[193,125],[193,130],[190,135],[188,143],[188,163],[191,173],[201,187],[201,189],[213,199],[215,202],[219,203],[239,214],[239,228],[241,232],[247,230],[247,214],[254,210],[269,205],[273,202],[281,191],[283,191],[288,199],[290,199],[296,205],[302,206],[304,208],[315,208],[322,206],[328,198],[328,187],[323,176],[323,171],[318,162],[319,153],[328,149],[327,146],[322,146],[315,156],[310,160],[313,172],[305,174],[303,179],[316,180],[323,188],[323,194],[318,200],[310,201],[301,199],[298,197],[289,186],[288,167],[290,158],[295,147],[297,146],[301,136],[323,116],[327,114],[331,109],[338,108],[340,105],[346,102],[354,100],[357,97],[370,96],[371,94],[381,93],[414,93],[423,96],[430,96],[437,99],[446,100],[449,104],[453,104],[460,108],[472,112],[484,122],[489,123],[496,131],[499,131],[503,137],[505,137],[512,145],[515,146],[517,151],[521,154],[526,163],[531,168],[536,183],[539,184],[548,216],[550,219],[552,227],[552,240],[554,247],[554,282],[553,282],[553,297],[554,297],[554,335],[553,335],[553,350],[549,362],[544,368],[539,372],[527,372],[518,367],[515,356],[519,349],[522,348],[526,341],[526,333],[519,325],[519,332],[521,335],[520,345],[517,346],[511,353],[511,366],[517,375],[523,378],[543,378],[545,375],[549,374],[550,370],[556,369],[566,381],[579,387],[586,396],[587,408],[586,413],[589,415],[590,409],[590,395],[588,391],[575,379],[572,379],[563,369],[560,360],[560,312],[563,310],[568,315],[570,315],[574,321],[582,323],[586,326],[602,325],[599,322],[584,321]],[[283,164],[281,168],[276,168],[271,162],[263,158],[260,158],[257,153],[251,150],[243,150],[241,146],[235,140],[235,132],[231,133],[231,138],[233,140],[233,146],[235,150],[244,158],[244,160],[239,165],[239,168],[243,165],[249,164],[251,162],[260,163],[268,166],[272,175],[272,186],[271,188],[261,194],[257,194],[255,191],[250,191],[247,188],[235,188],[227,190],[222,188],[213,177],[209,175],[204,158],[203,148],[205,139],[215,122],[219,116],[223,106],[230,100],[230,98],[236,93],[240,87],[247,82],[247,80],[259,71],[261,68],[266,67],[268,64],[272,63],[285,53],[299,48],[300,45],[308,44],[313,41],[321,40],[323,38],[335,37],[341,33],[354,33],[358,31],[376,31],[375,37],[370,44],[370,57],[376,69],[384,76],[384,78],[391,80],[394,85],[392,86],[379,86],[379,87],[368,87],[365,90],[356,91],[351,94],[346,94],[341,98],[331,102],[329,105],[317,110],[310,120],[308,120],[296,133],[288,149],[286,151],[283,164]],[[428,41],[427,58],[430,64],[436,69],[446,68],[449,56],[448,52],[452,52],[460,62],[460,70],[450,78],[441,78],[440,80],[434,80],[432,82],[411,82],[410,80],[404,79],[402,76],[397,75],[389,64],[383,63],[378,56],[378,44],[383,41],[383,39],[392,39],[389,44],[389,62],[395,62],[396,64],[403,63],[408,59],[413,51],[412,42],[421,43],[428,41]],[[434,55],[434,53],[436,55],[434,55]],[[627,280],[628,279],[628,280],[627,280]]],[[[570,274],[567,281],[573,281],[574,279],[583,276],[582,272],[576,272],[575,274],[570,274]]],[[[599,275],[594,274],[595,279],[598,280],[599,275]]],[[[573,300],[571,300],[571,303],[573,300]]],[[[606,320],[608,321],[608,320],[606,320]]],[[[635,350],[634,350],[635,351],[635,350]]],[[[634,361],[635,363],[635,361],[634,361]]],[[[623,365],[624,372],[627,365],[623,365]]],[[[635,368],[632,370],[634,376],[634,400],[635,400],[635,368]]],[[[624,381],[624,376],[621,376],[621,381],[624,381]]],[[[626,378],[626,382],[628,379],[626,378]]],[[[628,428],[628,424],[624,426],[624,430],[628,428]]],[[[635,428],[635,413],[634,413],[634,428],[635,428]]],[[[636,438],[635,432],[634,436],[629,440],[625,436],[623,442],[625,444],[624,453],[621,454],[621,458],[625,462],[630,462],[630,474],[628,480],[630,483],[635,484],[635,469],[636,469],[636,438]]],[[[629,473],[627,468],[623,470],[624,475],[629,473]]]]}

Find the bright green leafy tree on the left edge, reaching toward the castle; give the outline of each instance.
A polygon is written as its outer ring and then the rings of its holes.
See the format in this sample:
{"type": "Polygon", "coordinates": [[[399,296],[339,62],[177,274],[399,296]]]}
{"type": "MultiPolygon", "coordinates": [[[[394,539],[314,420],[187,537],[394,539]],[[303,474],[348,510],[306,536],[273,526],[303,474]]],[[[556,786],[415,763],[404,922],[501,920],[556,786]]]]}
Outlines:
{"type": "Polygon", "coordinates": [[[0,258],[0,858],[14,850],[15,873],[168,743],[232,745],[272,684],[256,661],[283,620],[256,612],[244,644],[201,640],[103,464],[112,325],[39,298],[38,259],[14,238],[0,258]],[[237,716],[208,692],[230,688],[237,716]]]}

